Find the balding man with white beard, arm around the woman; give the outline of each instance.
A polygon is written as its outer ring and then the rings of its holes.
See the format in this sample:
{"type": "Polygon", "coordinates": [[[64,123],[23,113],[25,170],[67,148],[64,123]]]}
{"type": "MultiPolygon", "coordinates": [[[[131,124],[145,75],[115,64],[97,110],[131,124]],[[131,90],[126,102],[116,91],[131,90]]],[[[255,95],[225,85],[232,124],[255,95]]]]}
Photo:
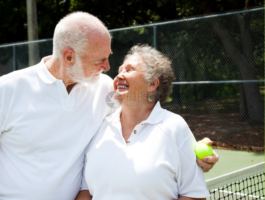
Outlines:
{"type": "MultiPolygon", "coordinates": [[[[53,54],[35,66],[0,77],[0,199],[75,199],[84,150],[102,120],[113,91],[111,36],[85,12],[59,21],[53,54]]],[[[209,170],[209,163],[199,165],[209,170]],[[208,169],[207,169],[208,168],[208,169]]]]}

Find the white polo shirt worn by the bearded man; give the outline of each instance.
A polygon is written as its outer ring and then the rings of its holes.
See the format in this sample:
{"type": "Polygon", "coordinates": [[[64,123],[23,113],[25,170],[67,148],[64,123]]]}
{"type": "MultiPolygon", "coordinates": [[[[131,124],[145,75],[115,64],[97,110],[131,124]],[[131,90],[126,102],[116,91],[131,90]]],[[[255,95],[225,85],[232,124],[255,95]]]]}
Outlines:
{"type": "Polygon", "coordinates": [[[113,80],[75,84],[70,94],[43,58],[0,77],[0,199],[75,199],[84,149],[113,113],[113,80]]]}

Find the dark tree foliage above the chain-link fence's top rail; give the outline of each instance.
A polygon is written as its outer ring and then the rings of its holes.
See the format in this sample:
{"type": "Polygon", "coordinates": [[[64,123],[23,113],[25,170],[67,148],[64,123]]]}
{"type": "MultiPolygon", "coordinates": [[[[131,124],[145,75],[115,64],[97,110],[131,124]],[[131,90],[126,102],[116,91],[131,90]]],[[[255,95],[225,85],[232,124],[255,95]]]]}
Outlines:
{"type": "MultiPolygon", "coordinates": [[[[263,5],[263,0],[37,0],[39,39],[75,10],[99,17],[109,29],[263,5]]],[[[0,44],[27,40],[25,0],[0,0],[0,44]]]]}

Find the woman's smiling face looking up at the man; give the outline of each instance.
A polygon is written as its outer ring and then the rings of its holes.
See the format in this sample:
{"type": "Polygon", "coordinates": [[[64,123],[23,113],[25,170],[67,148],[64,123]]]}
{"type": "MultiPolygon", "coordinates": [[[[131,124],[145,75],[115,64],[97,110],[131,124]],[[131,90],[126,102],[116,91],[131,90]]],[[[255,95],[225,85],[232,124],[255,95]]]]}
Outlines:
{"type": "MultiPolygon", "coordinates": [[[[119,68],[119,74],[114,78],[114,90],[129,100],[129,93],[147,92],[150,83],[145,82],[145,69],[140,56],[129,57],[119,68]]],[[[136,97],[138,99],[138,97],[136,97]]],[[[135,99],[136,100],[136,99],[135,99]]]]}

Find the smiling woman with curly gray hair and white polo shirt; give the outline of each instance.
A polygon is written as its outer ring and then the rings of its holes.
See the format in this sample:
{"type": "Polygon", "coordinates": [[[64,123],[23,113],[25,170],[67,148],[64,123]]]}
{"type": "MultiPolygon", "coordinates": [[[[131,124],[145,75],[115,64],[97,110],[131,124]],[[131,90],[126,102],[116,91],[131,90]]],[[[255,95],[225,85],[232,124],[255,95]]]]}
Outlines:
{"type": "Polygon", "coordinates": [[[84,175],[93,198],[210,196],[194,135],[181,116],[160,106],[173,79],[171,61],[152,47],[134,46],[125,57],[114,79],[120,109],[106,117],[86,151],[84,175]]]}

